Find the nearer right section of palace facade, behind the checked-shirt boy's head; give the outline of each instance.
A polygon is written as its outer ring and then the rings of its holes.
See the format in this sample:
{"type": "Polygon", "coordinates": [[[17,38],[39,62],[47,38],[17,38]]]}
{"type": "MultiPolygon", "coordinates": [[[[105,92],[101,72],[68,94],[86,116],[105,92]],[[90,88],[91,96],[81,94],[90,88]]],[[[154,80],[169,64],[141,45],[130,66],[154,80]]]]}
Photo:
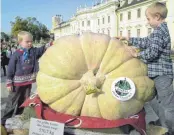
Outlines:
{"type": "MultiPolygon", "coordinates": [[[[130,30],[132,37],[146,37],[150,34],[150,29],[153,29],[147,24],[145,11],[147,7],[153,2],[154,0],[147,0],[140,4],[130,6],[127,8],[123,8],[118,10],[118,35],[122,33],[122,36],[128,36],[128,31],[130,30]],[[137,17],[137,10],[141,10],[141,16],[137,17]],[[128,12],[131,12],[131,19],[128,20],[128,12]],[[123,20],[120,21],[120,14],[123,16],[123,20]],[[140,35],[138,34],[138,29],[140,31],[140,35]]],[[[172,9],[172,4],[174,4],[174,0],[159,0],[160,2],[165,2],[168,8],[168,16],[166,18],[169,32],[171,36],[172,48],[174,48],[174,10],[172,9]]]]}

